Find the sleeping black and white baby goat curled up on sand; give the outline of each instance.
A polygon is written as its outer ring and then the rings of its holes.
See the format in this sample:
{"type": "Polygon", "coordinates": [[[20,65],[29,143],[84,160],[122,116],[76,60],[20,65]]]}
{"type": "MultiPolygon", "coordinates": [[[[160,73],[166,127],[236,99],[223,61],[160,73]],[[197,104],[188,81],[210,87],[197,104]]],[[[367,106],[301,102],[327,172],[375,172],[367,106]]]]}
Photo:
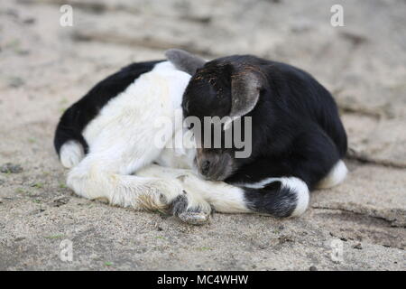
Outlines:
{"type": "Polygon", "coordinates": [[[134,63],[102,80],[60,118],[54,144],[78,195],[199,224],[213,208],[299,216],[309,189],[344,179],[337,106],[309,74],[253,56],[166,55],[169,61],[134,63]],[[180,107],[184,116],[175,113],[180,107]],[[165,126],[170,143],[188,130],[175,118],[189,116],[252,117],[253,154],[154,145],[157,118],[180,124],[165,126]]]}

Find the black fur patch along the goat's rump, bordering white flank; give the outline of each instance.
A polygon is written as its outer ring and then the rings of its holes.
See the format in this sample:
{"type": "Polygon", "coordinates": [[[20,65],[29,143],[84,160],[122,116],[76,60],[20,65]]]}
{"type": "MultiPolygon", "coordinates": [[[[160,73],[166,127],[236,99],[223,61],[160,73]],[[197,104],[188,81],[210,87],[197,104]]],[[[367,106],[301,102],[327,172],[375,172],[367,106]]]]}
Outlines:
{"type": "Polygon", "coordinates": [[[97,83],[87,95],[69,107],[60,117],[54,138],[54,146],[58,154],[60,147],[69,140],[76,140],[82,144],[85,153],[88,152],[88,144],[83,138],[82,131],[88,123],[97,116],[98,112],[106,103],[124,91],[134,79],[141,74],[151,71],[161,61],[147,61],[130,64],[115,74],[97,83]]]}

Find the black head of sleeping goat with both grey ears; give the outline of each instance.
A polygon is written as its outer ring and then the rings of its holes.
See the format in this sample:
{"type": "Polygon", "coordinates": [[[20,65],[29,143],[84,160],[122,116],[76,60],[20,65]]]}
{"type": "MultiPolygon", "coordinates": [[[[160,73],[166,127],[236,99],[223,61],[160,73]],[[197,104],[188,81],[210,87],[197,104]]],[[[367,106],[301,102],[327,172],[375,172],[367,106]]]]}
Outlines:
{"type": "MultiPolygon", "coordinates": [[[[241,147],[235,145],[234,137],[231,143],[226,144],[226,138],[230,137],[227,132],[232,130],[236,120],[249,116],[254,110],[266,79],[250,56],[205,61],[180,50],[167,51],[166,56],[178,69],[192,75],[183,95],[182,109],[186,120],[197,117],[199,123],[203,124],[203,128],[198,128],[201,137],[196,138],[199,147],[196,157],[198,172],[208,180],[225,180],[246,163],[246,160],[235,158],[235,152],[241,147]],[[217,117],[219,122],[208,123],[208,117],[217,117]],[[217,131],[220,132],[221,141],[216,145],[217,131]]],[[[245,128],[249,127],[244,127],[245,121],[238,121],[238,124],[243,126],[240,127],[242,137],[246,138],[245,128]]]]}

